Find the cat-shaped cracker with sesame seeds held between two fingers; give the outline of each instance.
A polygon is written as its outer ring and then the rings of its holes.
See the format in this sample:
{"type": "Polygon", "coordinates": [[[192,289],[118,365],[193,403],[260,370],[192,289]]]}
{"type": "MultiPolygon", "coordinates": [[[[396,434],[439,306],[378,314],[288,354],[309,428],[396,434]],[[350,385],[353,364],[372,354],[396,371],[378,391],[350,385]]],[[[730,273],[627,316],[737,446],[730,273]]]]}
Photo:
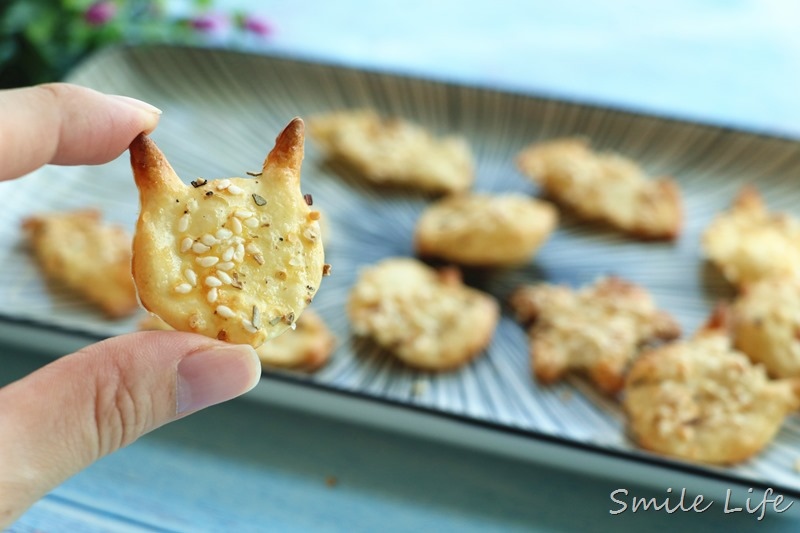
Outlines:
{"type": "Polygon", "coordinates": [[[300,192],[303,140],[296,118],[259,176],[191,185],[152,140],[134,140],[133,277],[148,311],[179,331],[254,347],[293,327],[325,268],[319,212],[300,192]]]}

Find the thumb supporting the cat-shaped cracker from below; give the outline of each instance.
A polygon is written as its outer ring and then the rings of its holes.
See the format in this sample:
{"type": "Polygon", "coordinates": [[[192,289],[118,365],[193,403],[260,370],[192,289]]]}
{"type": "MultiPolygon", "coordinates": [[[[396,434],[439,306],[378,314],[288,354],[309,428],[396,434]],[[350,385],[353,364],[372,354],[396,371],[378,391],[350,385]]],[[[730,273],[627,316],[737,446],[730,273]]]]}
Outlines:
{"type": "Polygon", "coordinates": [[[0,529],[62,481],[148,431],[253,388],[250,346],[123,335],[0,389],[0,529]]]}

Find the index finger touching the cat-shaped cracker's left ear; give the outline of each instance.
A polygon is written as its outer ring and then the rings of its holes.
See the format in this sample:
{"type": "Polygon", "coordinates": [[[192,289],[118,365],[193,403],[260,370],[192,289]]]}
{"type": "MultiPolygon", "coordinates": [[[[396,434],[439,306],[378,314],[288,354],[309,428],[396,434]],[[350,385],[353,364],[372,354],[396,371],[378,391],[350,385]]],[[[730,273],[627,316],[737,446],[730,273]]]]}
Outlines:
{"type": "Polygon", "coordinates": [[[157,108],[66,83],[0,91],[0,181],[42,165],[111,161],[155,129],[157,108]]]}

